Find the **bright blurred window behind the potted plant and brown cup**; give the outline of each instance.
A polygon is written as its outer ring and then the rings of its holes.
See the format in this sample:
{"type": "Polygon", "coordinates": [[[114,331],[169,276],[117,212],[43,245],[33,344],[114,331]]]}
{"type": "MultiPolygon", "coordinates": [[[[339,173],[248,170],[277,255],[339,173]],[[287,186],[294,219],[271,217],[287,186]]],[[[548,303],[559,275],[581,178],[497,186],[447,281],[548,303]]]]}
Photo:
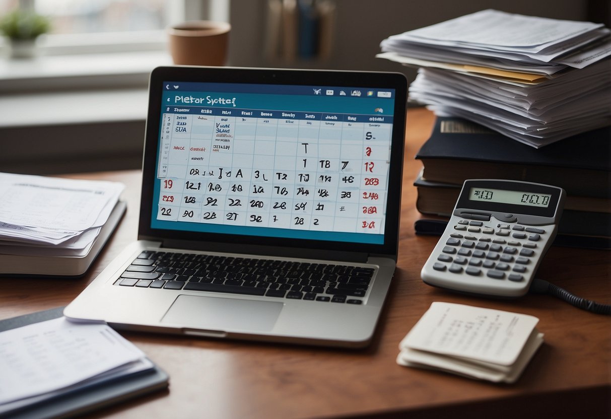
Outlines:
{"type": "Polygon", "coordinates": [[[161,50],[165,28],[210,16],[229,0],[0,0],[0,15],[20,8],[51,20],[46,54],[161,50]]]}

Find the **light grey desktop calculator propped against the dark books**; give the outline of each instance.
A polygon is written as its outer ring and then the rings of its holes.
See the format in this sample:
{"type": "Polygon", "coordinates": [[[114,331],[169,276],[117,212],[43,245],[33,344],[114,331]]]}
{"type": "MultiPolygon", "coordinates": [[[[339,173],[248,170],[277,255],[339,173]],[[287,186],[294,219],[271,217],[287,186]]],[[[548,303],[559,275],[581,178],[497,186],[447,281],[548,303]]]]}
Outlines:
{"type": "Polygon", "coordinates": [[[554,241],[565,199],[564,189],[546,184],[464,181],[422,280],[464,293],[524,295],[554,241]]]}

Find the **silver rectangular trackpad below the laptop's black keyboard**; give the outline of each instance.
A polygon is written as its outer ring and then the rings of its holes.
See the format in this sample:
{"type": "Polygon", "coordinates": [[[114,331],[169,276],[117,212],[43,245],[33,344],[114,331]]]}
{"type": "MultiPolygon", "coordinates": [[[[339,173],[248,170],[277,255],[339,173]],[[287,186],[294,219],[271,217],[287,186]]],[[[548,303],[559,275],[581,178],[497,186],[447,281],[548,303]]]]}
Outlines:
{"type": "Polygon", "coordinates": [[[181,295],[161,322],[207,330],[271,330],[283,306],[275,301],[181,295]]]}

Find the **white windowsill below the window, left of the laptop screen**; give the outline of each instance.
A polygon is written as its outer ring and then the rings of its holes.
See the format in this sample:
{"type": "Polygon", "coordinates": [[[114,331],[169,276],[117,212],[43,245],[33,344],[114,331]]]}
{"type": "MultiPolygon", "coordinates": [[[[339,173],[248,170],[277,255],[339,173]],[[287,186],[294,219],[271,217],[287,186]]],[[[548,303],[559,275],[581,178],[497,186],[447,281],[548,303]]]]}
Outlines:
{"type": "Polygon", "coordinates": [[[0,59],[0,128],[144,120],[164,51],[0,59]]]}

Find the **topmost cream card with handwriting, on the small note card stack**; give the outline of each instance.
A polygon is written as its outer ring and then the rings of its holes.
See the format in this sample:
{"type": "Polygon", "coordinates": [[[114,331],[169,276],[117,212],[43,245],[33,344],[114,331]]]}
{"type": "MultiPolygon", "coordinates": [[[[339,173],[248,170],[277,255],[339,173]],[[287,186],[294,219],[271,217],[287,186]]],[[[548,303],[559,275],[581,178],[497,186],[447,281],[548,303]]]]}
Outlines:
{"type": "Polygon", "coordinates": [[[518,313],[433,302],[400,348],[511,365],[538,321],[518,313]]]}

